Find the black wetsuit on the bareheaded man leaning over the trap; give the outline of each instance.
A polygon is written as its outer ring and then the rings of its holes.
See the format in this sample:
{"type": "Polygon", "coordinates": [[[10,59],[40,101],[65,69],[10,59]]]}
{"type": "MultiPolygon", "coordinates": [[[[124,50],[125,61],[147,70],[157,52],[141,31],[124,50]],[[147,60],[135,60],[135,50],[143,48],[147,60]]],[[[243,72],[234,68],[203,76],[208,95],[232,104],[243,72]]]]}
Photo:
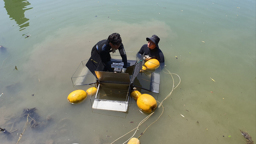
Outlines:
{"type": "MultiPolygon", "coordinates": [[[[99,41],[92,48],[91,55],[93,54],[93,52],[95,50],[97,50],[97,52],[100,54],[100,59],[101,59],[103,65],[105,66],[104,71],[108,70],[109,72],[114,72],[113,69],[111,68],[111,65],[108,64],[108,61],[110,61],[110,59],[111,59],[111,56],[109,53],[112,52],[109,42],[106,39],[99,41]]],[[[122,57],[123,68],[127,68],[127,56],[126,56],[126,53],[125,53],[122,43],[120,44],[118,50],[122,57]]]]}

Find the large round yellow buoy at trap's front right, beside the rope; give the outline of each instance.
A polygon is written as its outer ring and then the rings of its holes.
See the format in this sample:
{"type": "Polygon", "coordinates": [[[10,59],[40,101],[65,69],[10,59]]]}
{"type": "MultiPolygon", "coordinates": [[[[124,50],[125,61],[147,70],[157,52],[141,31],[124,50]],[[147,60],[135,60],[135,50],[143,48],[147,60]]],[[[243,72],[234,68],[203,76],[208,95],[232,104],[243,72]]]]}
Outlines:
{"type": "Polygon", "coordinates": [[[150,94],[141,94],[137,100],[137,105],[141,111],[150,113],[156,110],[157,103],[150,94]]]}

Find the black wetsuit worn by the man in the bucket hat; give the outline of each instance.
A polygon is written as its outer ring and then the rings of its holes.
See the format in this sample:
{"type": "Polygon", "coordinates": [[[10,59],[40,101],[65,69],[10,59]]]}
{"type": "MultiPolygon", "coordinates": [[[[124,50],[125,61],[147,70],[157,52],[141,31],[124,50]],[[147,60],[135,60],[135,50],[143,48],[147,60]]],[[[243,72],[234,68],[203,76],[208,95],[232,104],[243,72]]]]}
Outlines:
{"type": "Polygon", "coordinates": [[[158,60],[160,63],[164,63],[164,55],[162,51],[157,47],[153,50],[150,50],[148,48],[148,44],[144,44],[139,50],[140,55],[143,55],[143,53],[145,53],[145,55],[149,55],[152,59],[158,60]]]}

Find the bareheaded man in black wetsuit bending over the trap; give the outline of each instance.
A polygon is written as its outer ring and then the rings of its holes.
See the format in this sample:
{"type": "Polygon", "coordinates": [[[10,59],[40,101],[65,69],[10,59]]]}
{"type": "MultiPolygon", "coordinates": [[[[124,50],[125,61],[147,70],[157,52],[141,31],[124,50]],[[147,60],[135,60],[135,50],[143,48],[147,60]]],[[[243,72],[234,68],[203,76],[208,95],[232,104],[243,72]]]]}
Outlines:
{"type": "Polygon", "coordinates": [[[97,44],[95,44],[95,46],[92,48],[91,55],[95,50],[97,50],[97,52],[100,54],[100,59],[105,66],[103,71],[108,70],[109,72],[114,72],[108,62],[111,59],[110,52],[114,53],[117,49],[119,50],[123,62],[123,68],[121,72],[125,73],[127,68],[127,56],[123,48],[122,39],[119,33],[112,33],[111,35],[109,35],[108,39],[101,40],[97,44]]]}

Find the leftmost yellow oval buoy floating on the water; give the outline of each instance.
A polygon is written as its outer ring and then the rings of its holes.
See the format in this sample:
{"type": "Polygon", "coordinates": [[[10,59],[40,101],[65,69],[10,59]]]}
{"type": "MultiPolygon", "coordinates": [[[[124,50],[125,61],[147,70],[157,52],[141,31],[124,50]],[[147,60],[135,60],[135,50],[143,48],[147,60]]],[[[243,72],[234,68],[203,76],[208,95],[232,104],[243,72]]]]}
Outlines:
{"type": "Polygon", "coordinates": [[[86,97],[87,97],[86,92],[84,90],[78,89],[78,90],[72,91],[67,96],[67,100],[72,104],[76,104],[83,101],[86,97]]]}

